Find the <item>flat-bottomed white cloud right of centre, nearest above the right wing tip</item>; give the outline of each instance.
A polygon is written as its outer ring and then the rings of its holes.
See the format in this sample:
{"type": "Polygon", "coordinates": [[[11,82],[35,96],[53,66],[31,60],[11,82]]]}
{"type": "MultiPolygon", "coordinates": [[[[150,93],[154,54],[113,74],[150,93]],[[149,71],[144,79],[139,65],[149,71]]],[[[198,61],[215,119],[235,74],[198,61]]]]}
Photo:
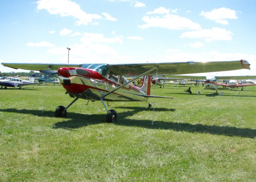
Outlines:
{"type": "Polygon", "coordinates": [[[187,31],[180,35],[180,38],[203,38],[206,42],[210,41],[221,41],[221,40],[232,40],[233,33],[226,29],[213,27],[212,29],[202,29],[197,31],[187,31]]]}

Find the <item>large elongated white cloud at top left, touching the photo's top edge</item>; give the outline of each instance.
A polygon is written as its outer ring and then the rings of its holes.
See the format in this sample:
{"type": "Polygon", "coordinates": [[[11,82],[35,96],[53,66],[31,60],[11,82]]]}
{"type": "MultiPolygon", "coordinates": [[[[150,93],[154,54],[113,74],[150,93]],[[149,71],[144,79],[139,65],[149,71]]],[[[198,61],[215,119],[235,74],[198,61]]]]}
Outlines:
{"type": "Polygon", "coordinates": [[[61,17],[72,16],[78,19],[76,25],[88,25],[93,19],[101,19],[98,14],[87,14],[80,6],[71,0],[38,0],[38,10],[46,10],[50,14],[59,14],[61,17]]]}

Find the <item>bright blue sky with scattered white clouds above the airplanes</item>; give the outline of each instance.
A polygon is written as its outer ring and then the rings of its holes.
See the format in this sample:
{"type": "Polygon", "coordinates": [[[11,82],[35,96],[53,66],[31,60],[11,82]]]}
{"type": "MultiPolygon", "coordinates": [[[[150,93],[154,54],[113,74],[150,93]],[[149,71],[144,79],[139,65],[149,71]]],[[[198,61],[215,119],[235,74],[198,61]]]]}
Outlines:
{"type": "MultiPolygon", "coordinates": [[[[246,59],[256,75],[255,0],[1,0],[0,63],[246,59]]],[[[20,72],[0,65],[1,72],[20,72]]]]}

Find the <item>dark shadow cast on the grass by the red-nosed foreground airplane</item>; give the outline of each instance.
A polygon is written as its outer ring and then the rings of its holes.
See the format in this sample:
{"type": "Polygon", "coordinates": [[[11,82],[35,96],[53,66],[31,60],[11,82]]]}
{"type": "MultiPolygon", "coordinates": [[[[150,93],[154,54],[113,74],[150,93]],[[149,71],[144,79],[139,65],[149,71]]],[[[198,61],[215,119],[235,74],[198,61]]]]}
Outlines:
{"type": "MultiPolygon", "coordinates": [[[[145,110],[152,110],[143,107],[118,107],[121,109],[128,109],[130,111],[118,113],[118,122],[116,125],[122,126],[136,126],[144,127],[148,129],[170,129],[174,131],[187,131],[191,133],[210,133],[214,135],[226,135],[226,136],[237,136],[237,137],[256,137],[256,129],[250,128],[238,128],[229,126],[217,126],[217,125],[202,125],[202,124],[190,124],[190,123],[178,123],[171,121],[154,121],[152,126],[152,120],[141,120],[141,119],[129,119],[126,118],[128,115],[134,115],[138,112],[145,110]]],[[[155,112],[170,111],[174,112],[175,109],[155,108],[155,112]]],[[[19,114],[33,114],[39,117],[53,117],[54,112],[44,111],[42,115],[41,110],[16,110],[16,109],[0,109],[0,112],[12,112],[19,114]]],[[[73,130],[76,128],[84,127],[87,125],[94,125],[104,123],[106,121],[106,114],[80,114],[74,112],[68,112],[68,121],[60,121],[53,125],[53,129],[69,129],[73,130]]],[[[156,118],[155,118],[156,119],[156,118]]]]}

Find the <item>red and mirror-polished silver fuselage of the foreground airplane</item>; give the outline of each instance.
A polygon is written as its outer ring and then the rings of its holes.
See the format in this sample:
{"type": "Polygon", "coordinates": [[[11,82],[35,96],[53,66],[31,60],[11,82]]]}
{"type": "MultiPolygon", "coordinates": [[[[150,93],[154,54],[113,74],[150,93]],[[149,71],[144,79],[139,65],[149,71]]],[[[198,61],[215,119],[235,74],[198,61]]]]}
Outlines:
{"type": "MultiPolygon", "coordinates": [[[[104,69],[104,68],[103,68],[104,69]]],[[[102,72],[102,71],[101,71],[102,72]]],[[[103,76],[95,69],[89,68],[60,68],[58,70],[59,80],[67,90],[70,97],[86,100],[100,100],[102,96],[128,82],[126,78],[111,70],[107,70],[103,76]]],[[[147,80],[143,80],[143,83],[147,80]]],[[[103,100],[108,101],[146,101],[143,97],[146,93],[140,87],[127,83],[122,88],[112,92],[103,100]]]]}

